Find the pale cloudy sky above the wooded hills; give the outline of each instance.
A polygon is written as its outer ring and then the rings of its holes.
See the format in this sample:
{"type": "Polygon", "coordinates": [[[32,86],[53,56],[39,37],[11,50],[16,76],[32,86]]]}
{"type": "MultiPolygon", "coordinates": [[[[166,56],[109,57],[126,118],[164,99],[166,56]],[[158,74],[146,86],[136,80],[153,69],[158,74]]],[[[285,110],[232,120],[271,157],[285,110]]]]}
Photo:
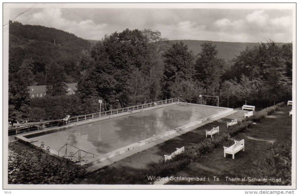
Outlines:
{"type": "Polygon", "coordinates": [[[36,7],[10,8],[9,19],[22,24],[54,27],[91,40],[100,40],[105,34],[129,28],[158,30],[169,40],[293,41],[292,10],[289,9],[67,7],[38,4],[36,7]]]}

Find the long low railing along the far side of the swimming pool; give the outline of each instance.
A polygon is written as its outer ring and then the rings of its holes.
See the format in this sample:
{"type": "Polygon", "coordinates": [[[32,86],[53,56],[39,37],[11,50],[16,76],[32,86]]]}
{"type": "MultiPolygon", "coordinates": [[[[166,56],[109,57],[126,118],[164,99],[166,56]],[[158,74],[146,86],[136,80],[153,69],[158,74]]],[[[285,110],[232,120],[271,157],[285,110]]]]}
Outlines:
{"type": "MultiPolygon", "coordinates": [[[[126,108],[120,108],[120,109],[114,109],[114,110],[108,110],[104,112],[97,112],[97,113],[92,113],[92,114],[85,114],[81,116],[76,116],[76,117],[70,117],[68,120],[68,123],[74,123],[74,122],[79,122],[82,120],[90,120],[94,118],[100,118],[109,116],[112,114],[119,114],[123,112],[129,112],[132,110],[138,110],[138,109],[144,109],[144,108],[149,108],[153,106],[158,106],[158,105],[163,105],[163,104],[168,104],[168,103],[174,103],[174,102],[179,102],[179,99],[177,98],[172,98],[169,100],[162,100],[162,101],[157,101],[157,102],[152,102],[152,103],[145,103],[137,106],[129,106],[126,108]]],[[[44,123],[37,123],[33,125],[28,125],[28,126],[21,126],[13,129],[8,129],[8,135],[14,135],[14,134],[20,134],[28,131],[35,131],[38,129],[45,129],[53,126],[58,126],[61,123],[62,119],[60,120],[52,120],[50,122],[44,122],[44,123]]]]}

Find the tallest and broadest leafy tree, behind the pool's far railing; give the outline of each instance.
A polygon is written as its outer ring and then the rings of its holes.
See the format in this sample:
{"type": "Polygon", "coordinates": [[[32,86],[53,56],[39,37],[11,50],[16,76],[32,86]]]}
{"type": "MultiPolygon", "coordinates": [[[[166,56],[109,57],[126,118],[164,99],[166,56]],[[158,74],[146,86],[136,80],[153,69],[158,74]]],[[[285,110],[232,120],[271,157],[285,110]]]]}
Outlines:
{"type": "Polygon", "coordinates": [[[159,57],[165,47],[160,36],[158,31],[138,29],[105,35],[81,57],[80,94],[86,100],[102,98],[105,109],[116,100],[122,107],[155,100],[161,91],[159,57]]]}

